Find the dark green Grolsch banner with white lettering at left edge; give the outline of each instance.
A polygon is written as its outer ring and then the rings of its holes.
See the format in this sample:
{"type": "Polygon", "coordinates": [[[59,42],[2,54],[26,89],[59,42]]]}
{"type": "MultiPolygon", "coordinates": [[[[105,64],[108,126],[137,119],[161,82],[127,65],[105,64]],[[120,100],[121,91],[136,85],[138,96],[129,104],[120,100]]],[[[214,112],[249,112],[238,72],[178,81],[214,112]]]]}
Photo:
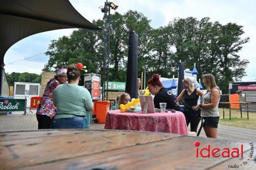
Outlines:
{"type": "Polygon", "coordinates": [[[0,112],[24,110],[25,99],[0,99],[0,112]]]}

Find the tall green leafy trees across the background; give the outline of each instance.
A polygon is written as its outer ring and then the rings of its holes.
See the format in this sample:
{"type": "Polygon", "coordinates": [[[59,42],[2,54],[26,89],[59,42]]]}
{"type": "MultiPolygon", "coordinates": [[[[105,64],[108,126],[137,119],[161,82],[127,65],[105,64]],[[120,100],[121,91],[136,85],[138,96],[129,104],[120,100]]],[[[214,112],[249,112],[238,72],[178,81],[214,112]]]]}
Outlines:
{"type": "MultiPolygon", "coordinates": [[[[249,41],[243,36],[242,26],[236,23],[222,25],[218,21],[211,22],[209,17],[201,20],[175,18],[157,29],[153,29],[150,22],[137,11],[111,14],[109,81],[125,81],[130,31],[139,37],[138,74],[146,69],[147,78],[153,73],[168,78],[177,76],[180,60],[190,69],[196,63],[199,78],[206,73],[213,74],[223,93],[228,92],[230,81],[246,76],[249,61],[241,60],[238,55],[243,44],[249,41]]],[[[93,23],[103,28],[103,20],[93,23]]],[[[81,62],[89,72],[102,76],[103,34],[79,29],[69,37],[52,40],[46,54],[50,59],[44,71],[81,62]]]]}

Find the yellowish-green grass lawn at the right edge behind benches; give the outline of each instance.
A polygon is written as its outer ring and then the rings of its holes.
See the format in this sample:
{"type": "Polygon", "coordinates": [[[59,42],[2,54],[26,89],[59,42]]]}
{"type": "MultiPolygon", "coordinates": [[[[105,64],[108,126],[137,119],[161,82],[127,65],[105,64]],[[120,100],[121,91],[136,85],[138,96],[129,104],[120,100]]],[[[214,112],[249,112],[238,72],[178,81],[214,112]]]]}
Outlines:
{"type": "Polygon", "coordinates": [[[256,130],[256,113],[249,112],[249,119],[247,119],[247,111],[241,113],[239,109],[231,109],[231,120],[229,120],[229,109],[225,108],[225,119],[223,119],[223,108],[219,108],[220,125],[227,125],[239,128],[248,128],[256,130]]]}

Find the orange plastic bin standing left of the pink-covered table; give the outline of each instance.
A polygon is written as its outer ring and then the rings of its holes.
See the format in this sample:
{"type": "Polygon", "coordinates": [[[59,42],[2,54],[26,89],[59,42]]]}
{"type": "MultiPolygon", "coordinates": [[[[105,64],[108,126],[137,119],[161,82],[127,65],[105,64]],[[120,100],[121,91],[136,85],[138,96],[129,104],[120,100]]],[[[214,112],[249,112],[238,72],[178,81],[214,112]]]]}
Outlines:
{"type": "Polygon", "coordinates": [[[94,114],[96,114],[96,119],[98,123],[104,124],[106,119],[106,114],[110,110],[110,101],[95,101],[94,102],[94,114]]]}

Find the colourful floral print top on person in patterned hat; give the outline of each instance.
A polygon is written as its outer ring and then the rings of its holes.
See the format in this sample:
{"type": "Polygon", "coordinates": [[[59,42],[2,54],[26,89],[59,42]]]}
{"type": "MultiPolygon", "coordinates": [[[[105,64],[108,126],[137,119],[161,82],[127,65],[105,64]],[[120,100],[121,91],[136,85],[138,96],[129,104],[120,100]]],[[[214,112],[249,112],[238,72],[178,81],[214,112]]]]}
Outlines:
{"type": "Polygon", "coordinates": [[[57,110],[53,104],[53,90],[59,85],[59,82],[53,78],[47,84],[44,94],[42,95],[40,104],[37,108],[36,114],[47,115],[50,118],[55,116],[57,110]]]}

